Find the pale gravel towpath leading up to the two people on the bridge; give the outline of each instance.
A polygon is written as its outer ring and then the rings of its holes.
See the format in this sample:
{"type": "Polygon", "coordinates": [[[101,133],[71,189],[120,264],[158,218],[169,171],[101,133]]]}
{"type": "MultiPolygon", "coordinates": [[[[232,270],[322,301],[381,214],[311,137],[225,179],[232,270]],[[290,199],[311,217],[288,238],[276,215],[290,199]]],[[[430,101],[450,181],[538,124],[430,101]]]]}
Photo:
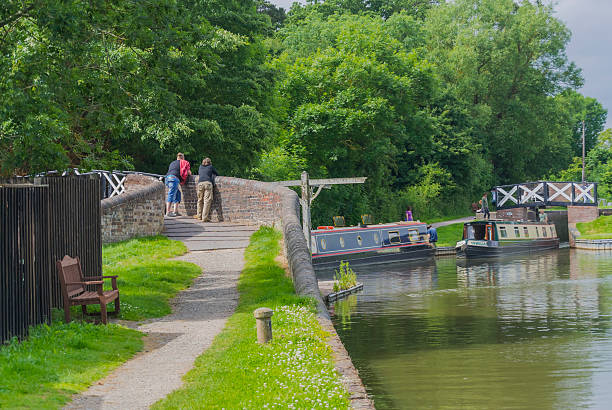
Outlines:
{"type": "Polygon", "coordinates": [[[172,314],[136,326],[147,334],[142,353],[76,395],[66,408],[146,409],[178,389],[236,308],[244,249],[255,229],[189,217],[166,219],[164,234],[189,249],[177,259],[200,266],[202,275],[174,299],[172,314]]]}

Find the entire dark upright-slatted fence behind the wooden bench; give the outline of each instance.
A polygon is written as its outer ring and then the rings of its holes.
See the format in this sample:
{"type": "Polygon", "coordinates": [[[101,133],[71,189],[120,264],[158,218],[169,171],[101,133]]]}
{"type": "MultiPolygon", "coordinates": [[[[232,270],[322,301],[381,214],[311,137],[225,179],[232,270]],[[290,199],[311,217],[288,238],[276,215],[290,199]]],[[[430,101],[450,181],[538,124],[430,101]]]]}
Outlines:
{"type": "MultiPolygon", "coordinates": [[[[100,176],[19,178],[0,185],[0,342],[62,307],[55,261],[79,256],[102,272],[100,176]]],[[[2,183],[2,181],[0,181],[2,183]]]]}

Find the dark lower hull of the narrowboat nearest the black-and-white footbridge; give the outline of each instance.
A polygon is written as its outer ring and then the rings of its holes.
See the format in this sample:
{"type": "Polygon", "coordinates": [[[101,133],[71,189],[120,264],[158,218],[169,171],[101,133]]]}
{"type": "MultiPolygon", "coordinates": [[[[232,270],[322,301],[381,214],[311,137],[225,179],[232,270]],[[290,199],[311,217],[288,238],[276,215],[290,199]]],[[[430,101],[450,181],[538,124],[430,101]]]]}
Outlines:
{"type": "Polygon", "coordinates": [[[457,256],[465,258],[486,258],[515,253],[533,253],[559,248],[559,238],[521,241],[462,241],[457,246],[457,256]]]}

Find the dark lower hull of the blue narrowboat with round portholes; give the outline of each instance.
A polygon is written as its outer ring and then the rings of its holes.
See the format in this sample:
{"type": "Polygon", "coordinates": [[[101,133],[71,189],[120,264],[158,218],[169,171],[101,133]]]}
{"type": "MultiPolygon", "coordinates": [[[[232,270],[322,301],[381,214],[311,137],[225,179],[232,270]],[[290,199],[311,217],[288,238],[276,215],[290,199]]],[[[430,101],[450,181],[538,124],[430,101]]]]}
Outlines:
{"type": "Polygon", "coordinates": [[[393,263],[433,258],[434,252],[434,249],[429,245],[413,245],[348,254],[313,256],[312,265],[315,268],[330,268],[337,267],[342,261],[348,261],[351,266],[393,263]]]}

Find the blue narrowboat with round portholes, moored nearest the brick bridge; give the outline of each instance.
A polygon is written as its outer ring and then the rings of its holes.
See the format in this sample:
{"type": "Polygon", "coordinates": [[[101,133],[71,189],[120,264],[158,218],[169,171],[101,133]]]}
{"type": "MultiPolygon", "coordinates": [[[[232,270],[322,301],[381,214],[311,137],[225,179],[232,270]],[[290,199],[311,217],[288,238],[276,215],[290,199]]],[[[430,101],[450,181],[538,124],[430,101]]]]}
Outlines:
{"type": "Polygon", "coordinates": [[[387,263],[432,258],[427,225],[396,222],[354,227],[320,226],[311,232],[312,264],[336,267],[351,264],[387,263]]]}

